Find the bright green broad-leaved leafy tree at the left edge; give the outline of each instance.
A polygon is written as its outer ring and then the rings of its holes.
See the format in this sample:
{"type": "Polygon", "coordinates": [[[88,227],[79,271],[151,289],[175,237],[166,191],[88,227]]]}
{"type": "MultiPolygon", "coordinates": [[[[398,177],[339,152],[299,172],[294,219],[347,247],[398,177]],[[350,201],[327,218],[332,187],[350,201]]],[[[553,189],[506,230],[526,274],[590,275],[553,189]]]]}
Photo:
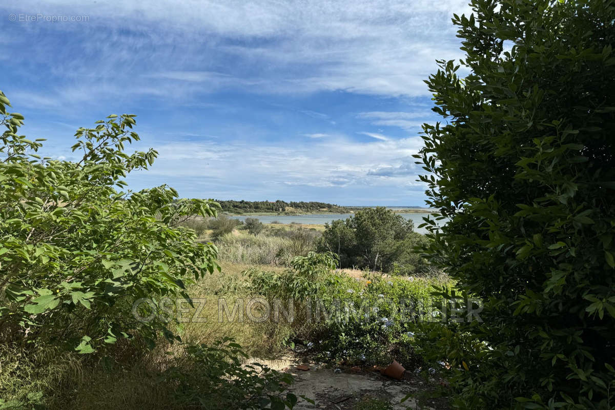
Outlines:
{"type": "Polygon", "coordinates": [[[178,226],[191,215],[215,216],[218,205],[177,199],[167,186],[117,191],[157,152],[126,154],[139,140],[135,116],[109,116],[79,128],[76,162],[36,154],[42,140],[18,135],[23,116],[0,92],[0,328],[5,337],[93,352],[119,339],[153,345],[169,317],[136,321],[135,299],[184,296],[188,283],[212,272],[217,250],[178,226]]]}

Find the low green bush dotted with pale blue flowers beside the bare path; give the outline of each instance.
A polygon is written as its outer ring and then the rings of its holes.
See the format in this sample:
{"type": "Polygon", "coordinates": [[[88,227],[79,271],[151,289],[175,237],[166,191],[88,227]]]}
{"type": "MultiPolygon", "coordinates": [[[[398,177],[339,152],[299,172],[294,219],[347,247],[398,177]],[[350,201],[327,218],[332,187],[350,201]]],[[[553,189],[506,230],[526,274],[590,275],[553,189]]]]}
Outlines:
{"type": "Polygon", "coordinates": [[[397,360],[408,370],[424,367],[416,334],[438,321],[432,285],[439,280],[372,276],[359,281],[344,274],[327,278],[320,300],[328,311],[348,306],[336,320],[321,321],[312,341],[317,357],[340,363],[383,365],[397,360]],[[353,316],[354,315],[354,316],[353,316]]]}

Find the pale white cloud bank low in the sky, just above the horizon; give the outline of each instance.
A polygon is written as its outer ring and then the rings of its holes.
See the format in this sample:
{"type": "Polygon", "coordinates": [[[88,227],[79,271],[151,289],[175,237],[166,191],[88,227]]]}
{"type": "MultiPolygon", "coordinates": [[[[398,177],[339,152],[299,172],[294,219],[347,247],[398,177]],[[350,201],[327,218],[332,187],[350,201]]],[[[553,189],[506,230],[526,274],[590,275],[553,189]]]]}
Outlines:
{"type": "MultiPolygon", "coordinates": [[[[143,145],[152,145],[148,141],[143,145]]],[[[410,165],[411,156],[421,146],[418,137],[357,142],[336,136],[282,146],[160,141],[153,146],[160,157],[151,170],[141,175],[160,181],[182,181],[183,187],[178,186],[180,194],[191,196],[199,192],[185,181],[194,179],[207,181],[208,189],[230,197],[237,192],[236,187],[246,186],[258,188],[259,192],[284,192],[282,186],[401,187],[413,184],[420,171],[410,165]]]]}

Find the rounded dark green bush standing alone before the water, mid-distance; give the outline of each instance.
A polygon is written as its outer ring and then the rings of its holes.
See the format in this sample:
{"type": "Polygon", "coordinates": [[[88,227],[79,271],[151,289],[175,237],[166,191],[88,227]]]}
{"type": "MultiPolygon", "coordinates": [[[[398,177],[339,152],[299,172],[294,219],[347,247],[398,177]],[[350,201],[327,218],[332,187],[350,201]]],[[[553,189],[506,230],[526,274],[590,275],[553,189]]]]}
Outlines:
{"type": "Polygon", "coordinates": [[[339,255],[340,267],[367,267],[399,274],[420,272],[425,261],[413,251],[426,242],[412,221],[384,207],[359,210],[325,225],[319,251],[339,255]]]}

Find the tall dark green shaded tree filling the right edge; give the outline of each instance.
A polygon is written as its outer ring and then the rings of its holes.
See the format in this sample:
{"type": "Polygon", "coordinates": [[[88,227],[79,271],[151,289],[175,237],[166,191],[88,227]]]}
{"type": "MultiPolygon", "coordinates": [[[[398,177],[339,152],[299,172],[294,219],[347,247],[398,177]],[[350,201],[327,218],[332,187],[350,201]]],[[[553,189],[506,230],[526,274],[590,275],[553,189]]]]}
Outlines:
{"type": "Polygon", "coordinates": [[[446,123],[424,125],[419,156],[450,218],[431,261],[485,303],[438,345],[455,404],[613,408],[615,3],[471,6],[453,18],[469,74],[438,61],[446,123]]]}

